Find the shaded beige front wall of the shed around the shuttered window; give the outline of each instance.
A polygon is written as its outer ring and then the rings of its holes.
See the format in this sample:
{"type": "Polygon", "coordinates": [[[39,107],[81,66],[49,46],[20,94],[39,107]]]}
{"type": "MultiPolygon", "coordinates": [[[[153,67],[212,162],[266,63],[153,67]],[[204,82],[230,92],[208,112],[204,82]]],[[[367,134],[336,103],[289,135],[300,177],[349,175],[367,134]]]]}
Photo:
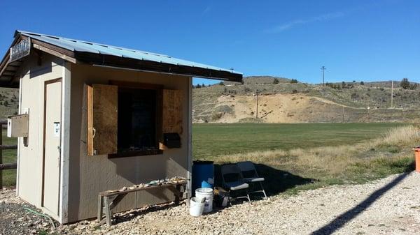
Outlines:
{"type": "MultiPolygon", "coordinates": [[[[190,77],[144,73],[132,70],[73,65],[71,68],[71,123],[68,221],[93,218],[97,214],[98,193],[123,186],[146,183],[172,176],[187,176],[188,171],[188,87],[190,77]],[[109,80],[162,84],[164,89],[183,91],[183,133],[181,149],[163,154],[126,158],[87,156],[86,98],[84,84],[108,84],[109,80]]],[[[165,190],[127,195],[116,211],[172,200],[165,190]]]]}

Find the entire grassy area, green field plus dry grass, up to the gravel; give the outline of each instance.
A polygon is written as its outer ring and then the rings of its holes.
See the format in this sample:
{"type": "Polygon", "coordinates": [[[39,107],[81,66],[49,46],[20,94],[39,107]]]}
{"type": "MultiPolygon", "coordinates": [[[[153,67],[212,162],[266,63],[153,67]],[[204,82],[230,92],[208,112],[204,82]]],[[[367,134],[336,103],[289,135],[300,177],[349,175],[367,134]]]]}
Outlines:
{"type": "Polygon", "coordinates": [[[327,185],[365,183],[413,169],[420,128],[402,123],[200,123],[195,160],[220,166],[251,160],[269,195],[327,185]]]}

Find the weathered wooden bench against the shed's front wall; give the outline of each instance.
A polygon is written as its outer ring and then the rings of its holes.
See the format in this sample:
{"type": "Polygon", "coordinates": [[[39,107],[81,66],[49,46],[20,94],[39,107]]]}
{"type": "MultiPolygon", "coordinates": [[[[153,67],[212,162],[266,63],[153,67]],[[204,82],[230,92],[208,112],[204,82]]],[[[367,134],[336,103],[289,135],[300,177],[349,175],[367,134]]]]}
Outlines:
{"type": "Polygon", "coordinates": [[[180,199],[183,197],[183,192],[186,192],[186,185],[187,182],[179,182],[179,183],[162,183],[160,185],[148,185],[146,187],[139,187],[139,188],[127,188],[125,190],[115,190],[115,191],[105,191],[99,192],[98,197],[98,222],[102,220],[106,220],[106,224],[111,226],[112,225],[112,209],[118,205],[119,202],[125,197],[125,195],[129,194],[130,192],[139,192],[142,190],[151,190],[155,188],[167,188],[174,193],[175,196],[175,203],[179,204],[180,199]],[[183,190],[181,191],[181,188],[183,190]],[[105,218],[102,219],[102,216],[105,215],[105,218]]]}

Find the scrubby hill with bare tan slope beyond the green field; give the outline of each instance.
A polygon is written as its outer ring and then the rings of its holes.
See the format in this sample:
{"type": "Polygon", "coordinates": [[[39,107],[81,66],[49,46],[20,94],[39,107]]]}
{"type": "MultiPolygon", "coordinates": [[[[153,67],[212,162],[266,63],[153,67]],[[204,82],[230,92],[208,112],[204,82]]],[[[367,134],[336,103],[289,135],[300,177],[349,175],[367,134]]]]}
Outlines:
{"type": "Polygon", "coordinates": [[[414,121],[420,117],[420,89],[391,81],[334,84],[291,83],[283,77],[245,77],[193,89],[195,122],[318,123],[414,121]],[[274,82],[276,79],[277,82],[274,82]],[[258,93],[258,118],[257,118],[258,93]]]}

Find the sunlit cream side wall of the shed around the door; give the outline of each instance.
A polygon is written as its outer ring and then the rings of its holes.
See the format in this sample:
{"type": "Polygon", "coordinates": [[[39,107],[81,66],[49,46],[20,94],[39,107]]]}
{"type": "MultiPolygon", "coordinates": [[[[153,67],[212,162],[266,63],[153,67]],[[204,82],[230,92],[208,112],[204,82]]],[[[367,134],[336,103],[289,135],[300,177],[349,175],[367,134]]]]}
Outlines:
{"type": "MultiPolygon", "coordinates": [[[[29,109],[28,146],[19,138],[18,196],[41,207],[43,107],[44,83],[62,76],[62,59],[43,55],[41,66],[38,57],[31,54],[18,73],[22,76],[21,110],[29,109]]],[[[57,110],[59,112],[59,110],[57,110]]],[[[57,215],[52,215],[57,219],[57,215]]]]}

